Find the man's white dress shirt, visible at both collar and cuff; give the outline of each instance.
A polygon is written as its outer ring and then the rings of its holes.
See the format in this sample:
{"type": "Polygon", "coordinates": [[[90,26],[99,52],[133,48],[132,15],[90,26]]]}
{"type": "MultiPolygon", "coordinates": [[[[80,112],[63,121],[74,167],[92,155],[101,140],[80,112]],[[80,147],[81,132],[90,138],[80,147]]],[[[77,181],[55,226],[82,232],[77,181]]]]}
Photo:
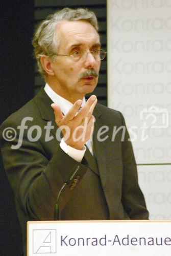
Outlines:
{"type": "MultiPolygon", "coordinates": [[[[52,90],[52,88],[48,85],[48,83],[45,84],[44,91],[46,92],[48,97],[50,97],[52,99],[52,101],[54,103],[57,103],[60,106],[61,111],[64,115],[66,115],[66,113],[69,111],[69,109],[73,106],[73,104],[70,101],[64,99],[59,94],[54,92],[52,90]]],[[[85,98],[83,98],[81,106],[84,106],[85,103],[86,103],[86,100],[85,100],[85,98]]],[[[75,159],[78,162],[82,161],[83,156],[86,151],[85,146],[84,146],[83,150],[77,150],[76,148],[67,145],[63,138],[60,142],[60,147],[66,154],[68,154],[71,158],[75,159]]]]}

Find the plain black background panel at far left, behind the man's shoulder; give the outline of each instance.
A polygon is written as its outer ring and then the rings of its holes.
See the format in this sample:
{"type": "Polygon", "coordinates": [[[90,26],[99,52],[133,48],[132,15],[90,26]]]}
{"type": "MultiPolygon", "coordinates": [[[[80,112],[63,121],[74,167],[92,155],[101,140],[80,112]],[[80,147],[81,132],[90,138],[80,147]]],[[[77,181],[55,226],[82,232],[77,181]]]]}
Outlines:
{"type": "MultiPolygon", "coordinates": [[[[34,96],[34,61],[31,38],[34,27],[34,3],[1,1],[1,87],[2,123],[34,96]]],[[[0,158],[1,236],[0,254],[21,255],[21,230],[15,209],[14,196],[0,158]]]]}

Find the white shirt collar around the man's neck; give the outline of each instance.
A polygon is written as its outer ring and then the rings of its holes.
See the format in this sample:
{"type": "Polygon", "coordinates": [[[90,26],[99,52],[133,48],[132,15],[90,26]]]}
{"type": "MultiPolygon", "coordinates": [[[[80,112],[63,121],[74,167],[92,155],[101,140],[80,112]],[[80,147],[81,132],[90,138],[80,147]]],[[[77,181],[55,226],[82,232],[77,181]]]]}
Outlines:
{"type": "MultiPolygon", "coordinates": [[[[68,101],[67,99],[61,97],[59,94],[54,92],[52,88],[48,85],[48,83],[45,84],[44,91],[52,99],[52,101],[56,104],[58,104],[61,108],[61,111],[64,115],[70,110],[70,108],[73,106],[73,104],[68,101]]],[[[81,106],[84,106],[86,103],[85,97],[83,98],[83,102],[81,106]]]]}

